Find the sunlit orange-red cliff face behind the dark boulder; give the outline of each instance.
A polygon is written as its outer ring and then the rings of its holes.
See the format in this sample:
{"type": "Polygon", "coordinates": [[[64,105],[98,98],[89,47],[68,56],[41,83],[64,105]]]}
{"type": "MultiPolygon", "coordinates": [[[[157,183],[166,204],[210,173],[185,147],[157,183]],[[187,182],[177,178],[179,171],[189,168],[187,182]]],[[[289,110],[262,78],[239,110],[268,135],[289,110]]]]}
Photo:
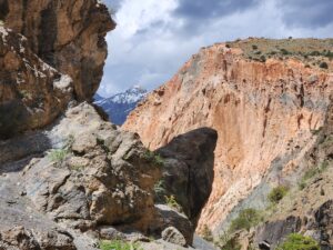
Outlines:
{"type": "MultiPolygon", "coordinates": [[[[128,118],[150,149],[199,127],[218,130],[213,191],[199,227],[216,228],[279,157],[297,166],[322,127],[333,74],[296,59],[252,61],[241,49],[202,49],[128,118]],[[296,152],[296,153],[295,153],[296,152]]],[[[332,67],[332,66],[331,66],[332,67]]]]}

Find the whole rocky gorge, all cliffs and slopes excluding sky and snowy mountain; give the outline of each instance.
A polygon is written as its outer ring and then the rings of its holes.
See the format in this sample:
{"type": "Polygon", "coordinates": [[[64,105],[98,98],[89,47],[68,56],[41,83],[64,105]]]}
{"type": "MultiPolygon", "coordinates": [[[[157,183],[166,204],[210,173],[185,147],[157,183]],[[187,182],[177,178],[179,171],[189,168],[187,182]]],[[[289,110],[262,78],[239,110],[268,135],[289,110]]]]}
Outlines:
{"type": "Polygon", "coordinates": [[[333,248],[333,39],[202,48],[119,128],[103,3],[0,20],[0,250],[333,248]]]}

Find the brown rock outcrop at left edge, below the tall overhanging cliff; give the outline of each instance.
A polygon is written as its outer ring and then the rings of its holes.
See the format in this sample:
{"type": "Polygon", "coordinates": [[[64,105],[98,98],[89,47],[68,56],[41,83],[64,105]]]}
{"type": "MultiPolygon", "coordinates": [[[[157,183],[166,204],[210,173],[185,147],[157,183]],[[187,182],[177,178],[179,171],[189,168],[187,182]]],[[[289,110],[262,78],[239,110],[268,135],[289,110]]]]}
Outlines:
{"type": "Polygon", "coordinates": [[[53,121],[72,98],[72,79],[37,57],[28,40],[0,27],[0,139],[53,121]]]}

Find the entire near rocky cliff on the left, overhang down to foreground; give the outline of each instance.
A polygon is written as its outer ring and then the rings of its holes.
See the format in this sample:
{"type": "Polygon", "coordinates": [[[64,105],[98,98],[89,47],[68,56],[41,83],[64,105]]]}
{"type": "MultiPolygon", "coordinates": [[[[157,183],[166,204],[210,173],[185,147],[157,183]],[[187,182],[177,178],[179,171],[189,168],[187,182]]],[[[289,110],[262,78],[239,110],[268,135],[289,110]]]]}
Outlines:
{"type": "Polygon", "coordinates": [[[211,190],[186,202],[199,179],[211,184],[215,131],[184,134],[163,148],[164,162],[101,118],[89,102],[114,22],[100,1],[0,0],[0,249],[190,247],[211,190]],[[198,149],[180,153],[178,144],[198,149]],[[180,199],[167,186],[157,202],[157,183],[175,164],[186,166],[183,184],[193,188],[180,199]]]}

